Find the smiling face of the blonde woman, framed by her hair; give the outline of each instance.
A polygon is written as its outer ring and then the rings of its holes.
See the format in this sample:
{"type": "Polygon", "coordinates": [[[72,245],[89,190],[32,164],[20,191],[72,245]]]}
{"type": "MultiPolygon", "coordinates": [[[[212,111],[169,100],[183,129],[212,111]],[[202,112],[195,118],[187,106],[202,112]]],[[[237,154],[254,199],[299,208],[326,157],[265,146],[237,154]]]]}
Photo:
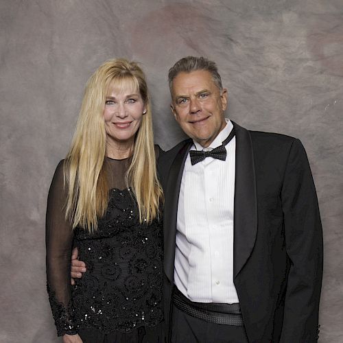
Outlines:
{"type": "Polygon", "coordinates": [[[136,88],[110,86],[104,108],[106,143],[111,147],[133,143],[145,111],[145,104],[136,88]]]}

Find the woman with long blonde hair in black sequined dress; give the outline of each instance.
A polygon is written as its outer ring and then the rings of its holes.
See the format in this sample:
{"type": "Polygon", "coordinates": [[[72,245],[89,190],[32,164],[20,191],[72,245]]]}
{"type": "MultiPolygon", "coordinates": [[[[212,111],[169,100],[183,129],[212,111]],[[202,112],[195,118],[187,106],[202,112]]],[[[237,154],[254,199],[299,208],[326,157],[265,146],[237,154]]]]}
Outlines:
{"type": "Polygon", "coordinates": [[[145,75],[109,60],[86,85],[47,202],[47,289],[63,342],[162,342],[163,241],[145,75]],[[87,272],[70,283],[71,249],[87,272]]]}

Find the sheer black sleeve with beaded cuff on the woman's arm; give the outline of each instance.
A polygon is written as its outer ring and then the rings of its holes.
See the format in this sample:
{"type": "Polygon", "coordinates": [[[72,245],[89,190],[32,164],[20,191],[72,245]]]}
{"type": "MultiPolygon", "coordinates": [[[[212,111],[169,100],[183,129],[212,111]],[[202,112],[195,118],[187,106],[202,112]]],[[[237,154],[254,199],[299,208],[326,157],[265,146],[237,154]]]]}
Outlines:
{"type": "Polygon", "coordinates": [[[58,335],[73,335],[73,307],[71,305],[70,264],[73,231],[65,219],[63,161],[58,164],[47,199],[46,248],[47,292],[58,335]]]}

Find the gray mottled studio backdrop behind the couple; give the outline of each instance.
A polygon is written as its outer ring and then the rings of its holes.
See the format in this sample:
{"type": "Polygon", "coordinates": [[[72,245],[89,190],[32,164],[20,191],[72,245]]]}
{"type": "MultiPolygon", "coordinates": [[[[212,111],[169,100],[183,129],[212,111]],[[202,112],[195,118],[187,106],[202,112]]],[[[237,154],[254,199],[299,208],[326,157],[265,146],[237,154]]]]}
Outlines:
{"type": "Polygon", "coordinates": [[[183,138],[167,69],[189,54],[217,61],[228,117],[303,141],[324,228],[320,342],[343,342],[342,0],[1,0],[0,25],[0,342],[59,342],[45,206],[86,80],[108,58],[142,62],[167,149],[183,138]]]}

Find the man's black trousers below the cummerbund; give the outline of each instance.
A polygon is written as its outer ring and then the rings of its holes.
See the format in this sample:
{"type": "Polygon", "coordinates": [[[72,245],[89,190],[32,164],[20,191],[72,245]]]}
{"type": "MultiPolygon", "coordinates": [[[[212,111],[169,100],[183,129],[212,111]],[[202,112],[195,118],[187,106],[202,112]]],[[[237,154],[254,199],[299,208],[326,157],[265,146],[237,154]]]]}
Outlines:
{"type": "Polygon", "coordinates": [[[171,343],[248,343],[244,327],[204,322],[173,305],[171,343]]]}

